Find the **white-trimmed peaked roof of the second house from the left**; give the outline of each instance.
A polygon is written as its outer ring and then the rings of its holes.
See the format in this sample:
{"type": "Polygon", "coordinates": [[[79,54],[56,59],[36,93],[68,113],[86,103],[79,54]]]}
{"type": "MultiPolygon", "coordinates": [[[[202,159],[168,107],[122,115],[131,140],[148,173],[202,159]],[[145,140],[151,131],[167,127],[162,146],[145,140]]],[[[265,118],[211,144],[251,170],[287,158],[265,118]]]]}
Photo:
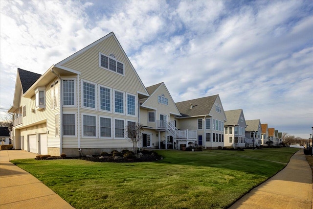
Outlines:
{"type": "MultiPolygon", "coordinates": [[[[147,92],[150,94],[150,97],[147,98],[142,104],[141,106],[142,107],[145,107],[147,105],[147,103],[149,103],[150,100],[152,100],[154,97],[158,96],[159,94],[161,95],[162,92],[160,92],[160,89],[164,87],[166,93],[169,95],[170,97],[170,101],[168,101],[169,103],[171,103],[174,107],[175,107],[175,112],[171,112],[171,114],[173,115],[177,115],[177,116],[180,116],[180,113],[179,113],[179,110],[170,94],[170,92],[168,91],[168,89],[166,88],[165,84],[162,82],[162,83],[159,83],[159,84],[156,84],[156,85],[153,85],[153,86],[150,86],[150,87],[147,87],[147,92]]],[[[157,99],[157,98],[156,98],[157,99]]],[[[152,105],[149,105],[147,106],[147,108],[151,108],[151,109],[154,109],[155,107],[151,107],[152,105]]]]}

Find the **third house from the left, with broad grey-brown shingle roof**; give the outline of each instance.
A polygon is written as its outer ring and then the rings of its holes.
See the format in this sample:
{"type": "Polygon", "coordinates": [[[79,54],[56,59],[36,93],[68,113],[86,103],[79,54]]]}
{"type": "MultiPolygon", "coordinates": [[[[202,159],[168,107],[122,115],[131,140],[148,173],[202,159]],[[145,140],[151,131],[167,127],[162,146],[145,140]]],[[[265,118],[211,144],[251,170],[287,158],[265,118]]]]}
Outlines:
{"type": "Polygon", "coordinates": [[[176,103],[181,116],[176,126],[183,130],[197,130],[197,144],[205,148],[224,146],[226,116],[219,95],[176,103]]]}

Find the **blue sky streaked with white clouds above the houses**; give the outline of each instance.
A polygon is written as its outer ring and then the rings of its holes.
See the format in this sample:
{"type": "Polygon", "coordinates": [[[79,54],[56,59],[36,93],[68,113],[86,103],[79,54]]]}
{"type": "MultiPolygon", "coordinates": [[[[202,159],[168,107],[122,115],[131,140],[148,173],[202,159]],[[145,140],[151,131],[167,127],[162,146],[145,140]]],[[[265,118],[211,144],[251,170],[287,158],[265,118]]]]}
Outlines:
{"type": "Polygon", "coordinates": [[[1,111],[17,68],[43,74],[112,31],[144,85],[164,82],[175,102],[219,94],[246,120],[312,133],[313,1],[300,0],[1,0],[1,111]]]}

